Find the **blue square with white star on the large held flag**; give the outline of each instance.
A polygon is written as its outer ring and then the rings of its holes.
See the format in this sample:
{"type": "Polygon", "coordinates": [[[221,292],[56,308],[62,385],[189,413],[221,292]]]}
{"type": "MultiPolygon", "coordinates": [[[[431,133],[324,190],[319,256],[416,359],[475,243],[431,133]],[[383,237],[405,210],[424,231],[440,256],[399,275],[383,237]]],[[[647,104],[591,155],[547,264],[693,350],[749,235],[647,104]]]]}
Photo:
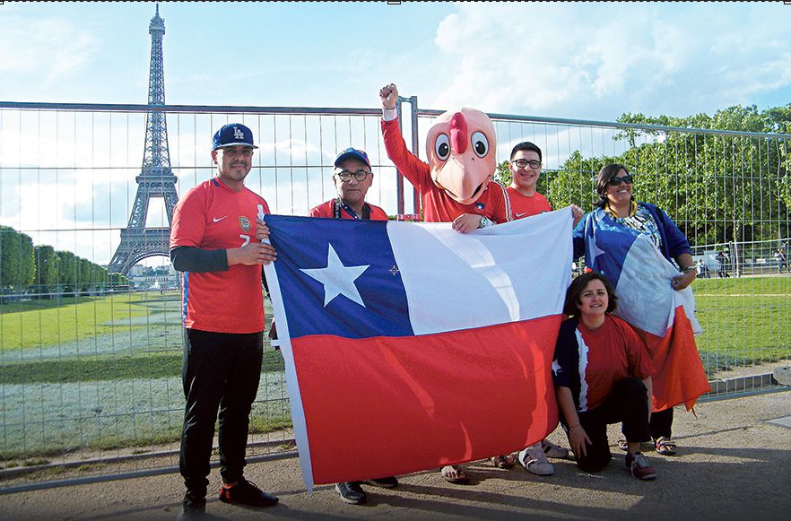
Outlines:
{"type": "Polygon", "coordinates": [[[413,334],[386,221],[267,215],[291,337],[413,334]],[[293,238],[300,240],[293,240],[293,238]]]}

